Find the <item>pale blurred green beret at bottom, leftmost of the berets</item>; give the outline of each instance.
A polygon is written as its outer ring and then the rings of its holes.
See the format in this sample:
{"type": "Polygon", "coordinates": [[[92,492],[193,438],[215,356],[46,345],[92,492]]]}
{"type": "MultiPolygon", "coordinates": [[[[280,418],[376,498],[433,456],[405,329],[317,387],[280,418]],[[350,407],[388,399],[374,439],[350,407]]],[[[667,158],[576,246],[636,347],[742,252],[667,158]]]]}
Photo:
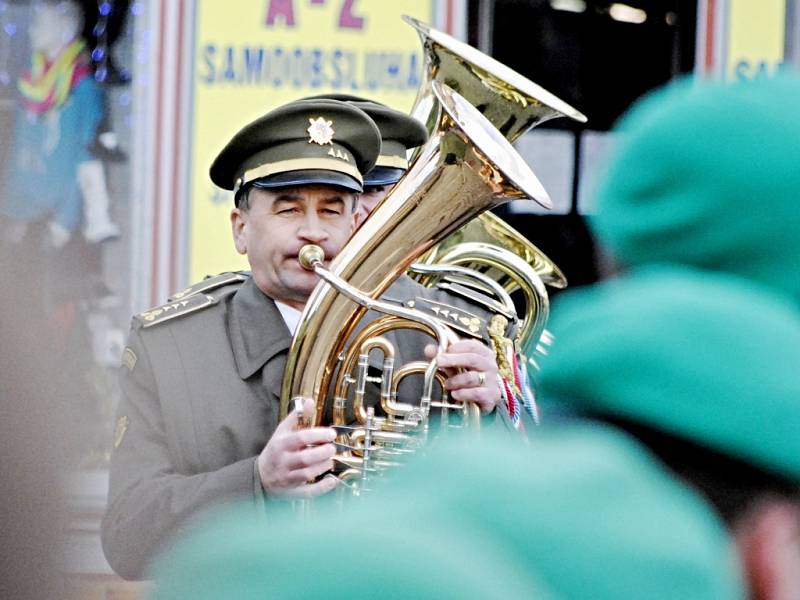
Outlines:
{"type": "Polygon", "coordinates": [[[321,504],[313,522],[279,502],[269,523],[250,505],[209,517],[158,561],[152,600],[553,598],[502,547],[458,528],[412,533],[391,515],[375,522],[357,505],[321,504]]]}

